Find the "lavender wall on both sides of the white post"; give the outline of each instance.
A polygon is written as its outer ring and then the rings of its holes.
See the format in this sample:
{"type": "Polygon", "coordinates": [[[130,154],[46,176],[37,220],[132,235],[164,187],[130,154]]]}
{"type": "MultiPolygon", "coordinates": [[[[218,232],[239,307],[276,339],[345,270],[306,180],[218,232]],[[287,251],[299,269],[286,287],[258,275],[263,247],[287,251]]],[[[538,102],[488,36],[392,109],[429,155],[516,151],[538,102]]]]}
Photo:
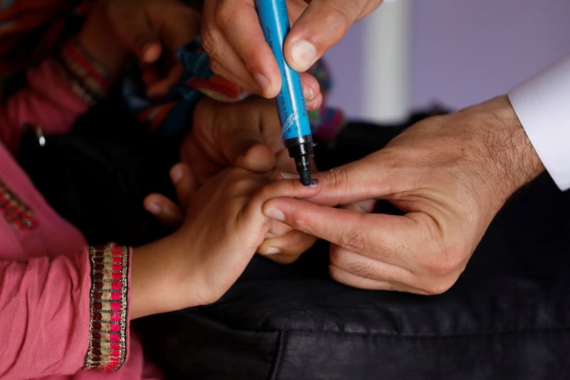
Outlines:
{"type": "MultiPolygon", "coordinates": [[[[413,109],[457,109],[505,93],[570,53],[569,0],[413,1],[413,109]]],[[[359,21],[326,54],[335,78],[328,102],[361,118],[359,21]]]]}

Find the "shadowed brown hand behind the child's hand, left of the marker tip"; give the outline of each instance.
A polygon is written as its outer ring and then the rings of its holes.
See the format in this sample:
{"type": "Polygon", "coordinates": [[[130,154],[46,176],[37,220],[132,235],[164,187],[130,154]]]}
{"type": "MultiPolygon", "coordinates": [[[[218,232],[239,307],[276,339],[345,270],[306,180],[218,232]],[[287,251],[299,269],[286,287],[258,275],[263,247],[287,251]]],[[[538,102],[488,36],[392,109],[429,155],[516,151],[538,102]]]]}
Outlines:
{"type": "Polygon", "coordinates": [[[264,172],[278,166],[284,171],[295,170],[281,143],[273,101],[252,97],[224,103],[204,98],[196,107],[194,124],[180,148],[180,160],[185,165],[177,164],[170,170],[180,205],[156,193],[144,200],[145,209],[165,225],[177,227],[182,223],[191,197],[187,189],[196,188],[225,168],[239,166],[264,172]]]}

